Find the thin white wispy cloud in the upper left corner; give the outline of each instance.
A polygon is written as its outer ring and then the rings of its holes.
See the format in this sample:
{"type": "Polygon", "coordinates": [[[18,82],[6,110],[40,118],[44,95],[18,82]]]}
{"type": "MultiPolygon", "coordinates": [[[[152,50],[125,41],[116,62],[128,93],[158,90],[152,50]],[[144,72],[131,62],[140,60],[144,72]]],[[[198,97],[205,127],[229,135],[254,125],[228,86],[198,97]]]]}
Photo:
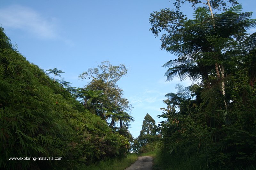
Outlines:
{"type": "Polygon", "coordinates": [[[0,21],[4,27],[20,29],[33,33],[43,39],[58,38],[56,18],[44,18],[40,13],[30,8],[13,5],[0,9],[0,21]]]}

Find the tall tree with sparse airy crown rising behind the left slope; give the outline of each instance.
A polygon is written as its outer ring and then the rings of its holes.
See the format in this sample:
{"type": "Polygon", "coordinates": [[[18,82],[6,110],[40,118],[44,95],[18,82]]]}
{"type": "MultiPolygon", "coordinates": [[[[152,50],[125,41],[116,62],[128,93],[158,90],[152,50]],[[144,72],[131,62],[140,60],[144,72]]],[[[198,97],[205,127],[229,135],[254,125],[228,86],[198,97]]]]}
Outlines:
{"type": "Polygon", "coordinates": [[[129,101],[123,98],[123,90],[116,84],[120,78],[127,74],[127,69],[124,64],[113,66],[109,61],[102,62],[97,68],[90,68],[84,71],[79,78],[92,79],[92,81],[84,87],[86,90],[103,91],[107,96],[107,102],[102,105],[102,110],[98,115],[110,121],[110,127],[117,127],[119,122],[119,129],[122,129],[124,123],[129,123],[133,120],[127,112],[132,110],[129,101]]]}

